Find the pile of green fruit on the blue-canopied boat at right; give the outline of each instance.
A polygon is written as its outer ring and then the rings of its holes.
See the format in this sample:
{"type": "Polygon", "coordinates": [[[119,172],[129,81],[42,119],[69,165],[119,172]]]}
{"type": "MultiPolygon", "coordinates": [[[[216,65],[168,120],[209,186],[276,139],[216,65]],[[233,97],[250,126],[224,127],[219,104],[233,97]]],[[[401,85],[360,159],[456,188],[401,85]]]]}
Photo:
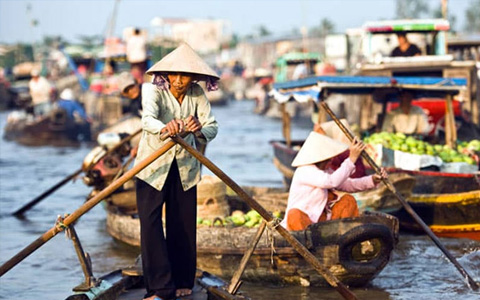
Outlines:
{"type": "Polygon", "coordinates": [[[480,141],[472,140],[470,142],[462,142],[457,149],[452,149],[447,145],[432,145],[428,142],[415,139],[412,136],[406,136],[403,133],[379,132],[366,137],[364,143],[377,145],[381,144],[385,148],[398,150],[412,154],[426,154],[438,156],[442,161],[449,162],[466,162],[472,165],[476,164],[475,159],[471,157],[470,151],[480,150],[480,141]],[[467,150],[466,150],[467,149],[467,150]]]}

